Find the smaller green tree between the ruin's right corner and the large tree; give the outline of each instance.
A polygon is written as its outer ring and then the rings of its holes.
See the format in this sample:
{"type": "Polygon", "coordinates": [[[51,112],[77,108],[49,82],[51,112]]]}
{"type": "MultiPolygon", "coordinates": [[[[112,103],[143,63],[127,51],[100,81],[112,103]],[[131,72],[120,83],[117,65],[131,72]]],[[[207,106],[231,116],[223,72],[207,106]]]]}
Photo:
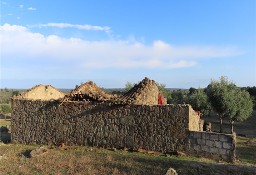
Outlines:
{"type": "Polygon", "coordinates": [[[193,89],[192,92],[189,91],[188,103],[191,104],[193,109],[200,111],[203,116],[209,115],[211,105],[204,89],[193,89]]]}

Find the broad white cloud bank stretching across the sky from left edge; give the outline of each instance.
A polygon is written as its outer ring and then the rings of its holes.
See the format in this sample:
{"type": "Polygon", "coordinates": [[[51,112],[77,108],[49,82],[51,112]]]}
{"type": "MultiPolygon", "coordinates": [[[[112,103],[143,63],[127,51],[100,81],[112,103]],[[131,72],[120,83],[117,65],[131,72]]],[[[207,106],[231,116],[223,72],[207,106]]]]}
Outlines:
{"type": "Polygon", "coordinates": [[[87,41],[57,35],[46,36],[24,26],[10,24],[0,26],[0,40],[3,59],[28,62],[28,65],[30,61],[43,60],[49,65],[55,61],[86,69],[184,68],[195,66],[200,59],[240,54],[231,47],[173,46],[160,40],[145,45],[134,39],[87,41]]]}

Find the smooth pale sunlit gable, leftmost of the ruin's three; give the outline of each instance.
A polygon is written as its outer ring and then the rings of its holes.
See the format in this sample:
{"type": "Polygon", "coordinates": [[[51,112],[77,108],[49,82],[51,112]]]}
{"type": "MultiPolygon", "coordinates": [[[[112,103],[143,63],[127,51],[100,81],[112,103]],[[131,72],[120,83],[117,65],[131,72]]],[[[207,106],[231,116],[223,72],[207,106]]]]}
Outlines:
{"type": "Polygon", "coordinates": [[[64,97],[64,93],[51,85],[36,85],[13,98],[31,99],[31,100],[56,100],[64,97]]]}

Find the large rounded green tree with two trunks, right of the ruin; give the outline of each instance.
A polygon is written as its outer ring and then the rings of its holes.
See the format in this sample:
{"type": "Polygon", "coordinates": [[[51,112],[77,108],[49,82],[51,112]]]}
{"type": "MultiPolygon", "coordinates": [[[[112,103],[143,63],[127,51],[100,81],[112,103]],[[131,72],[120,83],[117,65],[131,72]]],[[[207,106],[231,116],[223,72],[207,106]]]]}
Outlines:
{"type": "Polygon", "coordinates": [[[230,120],[233,132],[234,121],[243,121],[252,112],[253,104],[249,93],[236,87],[226,77],[222,76],[219,81],[212,80],[207,87],[207,96],[219,116],[220,132],[222,132],[223,118],[230,120]]]}

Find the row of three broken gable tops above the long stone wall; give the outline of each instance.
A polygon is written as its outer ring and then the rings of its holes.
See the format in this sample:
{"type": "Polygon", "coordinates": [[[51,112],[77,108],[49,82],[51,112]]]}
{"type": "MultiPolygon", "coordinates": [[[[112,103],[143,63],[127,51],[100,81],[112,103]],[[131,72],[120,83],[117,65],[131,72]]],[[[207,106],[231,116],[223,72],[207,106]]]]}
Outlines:
{"type": "Polygon", "coordinates": [[[159,90],[155,81],[146,77],[124,95],[108,94],[98,87],[94,82],[88,81],[72,90],[68,95],[65,95],[50,85],[45,86],[40,84],[14,98],[32,100],[61,100],[62,102],[108,102],[113,105],[155,105],[157,104],[158,92],[159,90]]]}

